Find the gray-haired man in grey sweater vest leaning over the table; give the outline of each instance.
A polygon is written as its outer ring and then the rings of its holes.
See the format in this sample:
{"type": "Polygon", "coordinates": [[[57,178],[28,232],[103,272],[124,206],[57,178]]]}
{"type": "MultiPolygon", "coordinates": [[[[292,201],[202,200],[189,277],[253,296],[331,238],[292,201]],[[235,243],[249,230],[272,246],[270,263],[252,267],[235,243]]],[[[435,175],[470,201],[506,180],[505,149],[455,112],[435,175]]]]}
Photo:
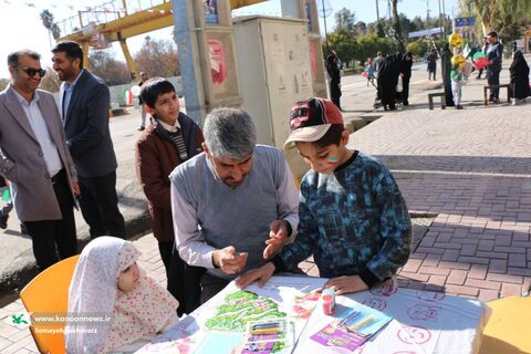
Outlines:
{"type": "Polygon", "coordinates": [[[205,153],[169,176],[176,246],[205,267],[201,303],[263,264],[296,230],[298,192],[281,150],[257,145],[251,117],[219,108],[206,119],[205,153]]]}

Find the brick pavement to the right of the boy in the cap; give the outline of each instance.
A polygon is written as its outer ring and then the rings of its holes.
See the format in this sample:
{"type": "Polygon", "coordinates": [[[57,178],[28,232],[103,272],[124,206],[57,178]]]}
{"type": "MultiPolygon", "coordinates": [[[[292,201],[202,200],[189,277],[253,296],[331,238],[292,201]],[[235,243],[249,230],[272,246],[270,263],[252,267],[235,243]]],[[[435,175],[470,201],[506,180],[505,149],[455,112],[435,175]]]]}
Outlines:
{"type": "Polygon", "coordinates": [[[436,215],[402,287],[482,301],[529,289],[530,144],[529,104],[405,110],[351,136],[393,170],[412,212],[436,215]]]}

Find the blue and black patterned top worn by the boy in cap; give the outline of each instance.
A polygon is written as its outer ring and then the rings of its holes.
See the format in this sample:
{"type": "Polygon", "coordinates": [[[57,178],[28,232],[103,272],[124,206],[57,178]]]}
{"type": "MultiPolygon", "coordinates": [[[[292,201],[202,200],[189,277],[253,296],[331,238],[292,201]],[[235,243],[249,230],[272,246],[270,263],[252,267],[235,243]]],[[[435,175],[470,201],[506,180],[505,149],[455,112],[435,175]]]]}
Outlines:
{"type": "Polygon", "coordinates": [[[313,254],[323,278],[360,275],[368,285],[393,277],[409,258],[412,221],[389,170],[354,153],[332,175],[310,170],[301,184],[299,229],[272,261],[293,269],[313,254]]]}

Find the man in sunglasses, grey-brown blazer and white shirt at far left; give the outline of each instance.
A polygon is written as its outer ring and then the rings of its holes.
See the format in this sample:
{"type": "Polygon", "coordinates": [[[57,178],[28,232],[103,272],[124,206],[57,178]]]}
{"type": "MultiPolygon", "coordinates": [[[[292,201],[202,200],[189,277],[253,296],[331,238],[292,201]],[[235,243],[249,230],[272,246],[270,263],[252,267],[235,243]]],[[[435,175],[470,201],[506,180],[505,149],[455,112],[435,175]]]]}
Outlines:
{"type": "Polygon", "coordinates": [[[37,88],[45,74],[39,53],[13,52],[8,65],[11,83],[0,93],[0,175],[11,181],[14,209],[42,271],[77,252],[73,207],[80,187],[55,101],[37,88]]]}

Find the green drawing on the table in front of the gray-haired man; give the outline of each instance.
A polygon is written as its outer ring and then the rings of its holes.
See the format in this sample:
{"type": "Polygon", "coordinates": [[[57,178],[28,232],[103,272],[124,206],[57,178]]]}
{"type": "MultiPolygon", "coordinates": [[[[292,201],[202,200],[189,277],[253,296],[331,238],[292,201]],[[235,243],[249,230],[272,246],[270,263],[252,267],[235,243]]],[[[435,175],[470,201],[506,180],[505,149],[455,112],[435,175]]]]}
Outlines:
{"type": "Polygon", "coordinates": [[[237,291],[225,298],[225,302],[216,309],[216,315],[205,322],[208,330],[222,332],[244,332],[250,321],[285,317],[279,311],[279,304],[259,296],[250,291],[237,291]]]}

